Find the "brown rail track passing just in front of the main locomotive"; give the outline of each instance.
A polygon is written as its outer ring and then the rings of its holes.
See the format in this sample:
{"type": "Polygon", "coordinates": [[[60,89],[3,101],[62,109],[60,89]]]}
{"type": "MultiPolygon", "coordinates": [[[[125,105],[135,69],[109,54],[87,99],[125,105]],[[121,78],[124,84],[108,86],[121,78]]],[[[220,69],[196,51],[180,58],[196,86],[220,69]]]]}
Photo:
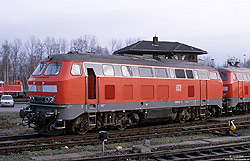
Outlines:
{"type": "MultiPolygon", "coordinates": [[[[140,127],[127,129],[125,131],[109,131],[108,143],[138,141],[167,136],[209,133],[228,129],[227,123],[224,122],[208,123],[206,121],[197,121],[189,124],[183,124],[182,126],[180,125],[182,124],[140,127]],[[193,125],[194,123],[199,123],[202,125],[193,125]]],[[[237,127],[250,127],[250,121],[239,121],[237,122],[237,127]]],[[[98,140],[97,132],[89,133],[86,135],[65,135],[57,137],[41,137],[37,134],[0,137],[0,153],[60,148],[64,146],[73,147],[84,145],[96,145],[100,143],[101,142],[98,140]]]]}

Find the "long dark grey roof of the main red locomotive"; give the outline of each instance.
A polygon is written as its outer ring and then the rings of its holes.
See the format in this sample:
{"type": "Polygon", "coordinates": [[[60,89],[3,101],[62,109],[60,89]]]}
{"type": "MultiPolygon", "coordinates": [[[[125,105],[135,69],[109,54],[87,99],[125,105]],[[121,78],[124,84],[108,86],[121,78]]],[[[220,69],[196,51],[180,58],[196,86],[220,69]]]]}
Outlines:
{"type": "Polygon", "coordinates": [[[200,65],[194,62],[185,62],[173,59],[155,60],[118,55],[100,55],[100,54],[57,54],[48,56],[42,61],[84,61],[84,62],[100,62],[100,63],[118,63],[118,64],[134,64],[164,67],[180,67],[194,69],[215,70],[212,67],[200,65]]]}

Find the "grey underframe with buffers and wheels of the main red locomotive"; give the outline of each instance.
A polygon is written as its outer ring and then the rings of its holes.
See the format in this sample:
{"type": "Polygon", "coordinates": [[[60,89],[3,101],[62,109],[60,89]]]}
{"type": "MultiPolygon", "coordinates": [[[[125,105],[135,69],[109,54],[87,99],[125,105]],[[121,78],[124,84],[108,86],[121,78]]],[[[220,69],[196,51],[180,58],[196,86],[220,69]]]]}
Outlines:
{"type": "Polygon", "coordinates": [[[220,99],[205,102],[205,106],[201,106],[203,100],[60,106],[31,103],[20,112],[20,116],[24,118],[26,124],[34,127],[39,133],[58,134],[64,131],[84,134],[93,128],[113,126],[124,129],[154,119],[185,122],[221,113],[220,99]]]}

